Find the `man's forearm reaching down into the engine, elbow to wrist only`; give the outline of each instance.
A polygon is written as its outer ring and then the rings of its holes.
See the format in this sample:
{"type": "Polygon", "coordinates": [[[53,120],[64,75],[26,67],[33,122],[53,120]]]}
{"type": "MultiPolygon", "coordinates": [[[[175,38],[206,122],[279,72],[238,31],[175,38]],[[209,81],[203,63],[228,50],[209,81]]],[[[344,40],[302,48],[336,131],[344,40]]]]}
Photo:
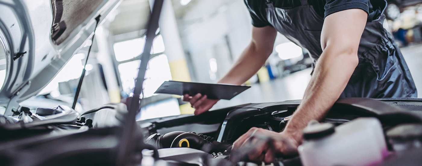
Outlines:
{"type": "Polygon", "coordinates": [[[302,129],[310,120],[320,120],[344,91],[358,64],[357,54],[326,49],[318,60],[303,100],[284,132],[301,140],[302,129]]]}

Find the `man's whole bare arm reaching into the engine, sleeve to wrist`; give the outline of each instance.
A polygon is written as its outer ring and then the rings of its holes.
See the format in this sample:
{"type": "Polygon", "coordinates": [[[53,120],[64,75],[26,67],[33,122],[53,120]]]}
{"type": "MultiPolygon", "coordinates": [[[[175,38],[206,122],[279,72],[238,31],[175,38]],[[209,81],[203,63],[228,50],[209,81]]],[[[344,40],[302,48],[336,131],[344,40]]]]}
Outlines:
{"type": "Polygon", "coordinates": [[[359,60],[357,49],[367,13],[349,9],[325,18],[322,27],[322,55],[306,88],[303,100],[289,121],[285,134],[301,140],[302,129],[312,119],[320,120],[344,91],[359,60]]]}

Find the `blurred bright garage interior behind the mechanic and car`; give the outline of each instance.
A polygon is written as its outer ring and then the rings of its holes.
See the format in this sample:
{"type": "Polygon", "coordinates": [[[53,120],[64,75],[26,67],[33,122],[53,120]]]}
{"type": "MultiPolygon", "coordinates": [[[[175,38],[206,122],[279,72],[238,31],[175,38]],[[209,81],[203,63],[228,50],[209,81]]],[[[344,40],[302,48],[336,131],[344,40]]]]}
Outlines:
{"type": "MultiPolygon", "coordinates": [[[[148,0],[122,0],[97,29],[92,58],[87,64],[87,80],[81,88],[80,109],[90,110],[108,102],[126,102],[131,96],[151,12],[149,4],[148,0]],[[95,88],[95,92],[89,91],[98,84],[104,86],[95,88]],[[87,100],[92,98],[96,100],[87,100]]],[[[421,10],[422,5],[409,6],[394,21],[384,22],[384,27],[398,37],[397,43],[417,88],[422,88],[422,75],[419,74],[421,10]]],[[[142,119],[193,113],[194,109],[181,101],[180,96],[154,92],[167,80],[216,83],[249,44],[252,29],[243,0],[172,0],[165,3],[160,26],[164,27],[160,27],[154,40],[147,72],[149,78],[143,89],[142,119]]],[[[39,96],[71,102],[72,89],[77,86],[87,48],[75,54],[39,96]]],[[[311,63],[305,51],[278,33],[274,51],[265,66],[246,82],[252,88],[231,100],[219,101],[211,110],[246,103],[301,99],[311,78],[311,63]]],[[[38,101],[36,98],[32,100],[38,101]]],[[[30,102],[31,99],[24,103],[30,102]]]]}

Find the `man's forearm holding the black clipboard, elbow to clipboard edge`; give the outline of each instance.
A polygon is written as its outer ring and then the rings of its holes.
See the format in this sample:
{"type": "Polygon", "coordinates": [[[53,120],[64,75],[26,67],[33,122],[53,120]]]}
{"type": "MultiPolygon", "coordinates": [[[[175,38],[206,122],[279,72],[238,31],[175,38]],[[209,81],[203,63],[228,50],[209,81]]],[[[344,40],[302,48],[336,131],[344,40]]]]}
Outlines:
{"type": "Polygon", "coordinates": [[[253,43],[249,44],[232,69],[219,83],[241,85],[260,70],[270,54],[270,51],[260,50],[253,43]]]}

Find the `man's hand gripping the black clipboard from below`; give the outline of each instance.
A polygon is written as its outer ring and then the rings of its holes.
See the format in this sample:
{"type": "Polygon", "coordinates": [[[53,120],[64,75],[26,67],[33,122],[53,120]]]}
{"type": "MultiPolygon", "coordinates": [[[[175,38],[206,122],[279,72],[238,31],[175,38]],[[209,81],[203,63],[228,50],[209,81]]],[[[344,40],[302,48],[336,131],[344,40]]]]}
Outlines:
{"type": "Polygon", "coordinates": [[[207,95],[202,96],[202,94],[196,94],[195,96],[185,94],[183,95],[183,101],[189,102],[192,108],[195,108],[195,115],[208,111],[218,102],[215,99],[207,99],[207,95]]]}

